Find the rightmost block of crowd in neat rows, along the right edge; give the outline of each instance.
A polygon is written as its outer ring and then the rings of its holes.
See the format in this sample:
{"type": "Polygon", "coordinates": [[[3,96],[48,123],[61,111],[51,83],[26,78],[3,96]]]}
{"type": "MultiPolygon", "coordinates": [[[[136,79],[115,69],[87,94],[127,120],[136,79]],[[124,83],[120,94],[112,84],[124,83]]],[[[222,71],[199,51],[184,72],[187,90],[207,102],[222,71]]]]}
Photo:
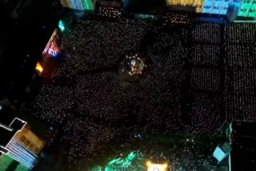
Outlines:
{"type": "Polygon", "coordinates": [[[232,24],[224,28],[226,113],[234,120],[255,121],[255,34],[254,24],[232,24]]]}

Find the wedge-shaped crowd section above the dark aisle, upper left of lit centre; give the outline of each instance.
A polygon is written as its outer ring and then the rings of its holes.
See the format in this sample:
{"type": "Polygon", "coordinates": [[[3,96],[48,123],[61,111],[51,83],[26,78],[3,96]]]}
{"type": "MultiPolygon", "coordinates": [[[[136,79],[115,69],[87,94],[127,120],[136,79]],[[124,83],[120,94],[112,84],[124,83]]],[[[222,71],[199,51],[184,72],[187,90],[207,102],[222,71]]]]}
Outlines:
{"type": "MultiPolygon", "coordinates": [[[[72,19],[70,19],[70,25],[72,19]]],[[[78,74],[78,71],[111,67],[120,55],[136,51],[146,26],[104,21],[77,21],[73,30],[64,34],[70,58],[58,74],[78,74]],[[86,29],[85,29],[86,28],[86,29]],[[136,34],[135,34],[136,33],[136,34]],[[74,70],[74,68],[77,68],[74,70]]]]}

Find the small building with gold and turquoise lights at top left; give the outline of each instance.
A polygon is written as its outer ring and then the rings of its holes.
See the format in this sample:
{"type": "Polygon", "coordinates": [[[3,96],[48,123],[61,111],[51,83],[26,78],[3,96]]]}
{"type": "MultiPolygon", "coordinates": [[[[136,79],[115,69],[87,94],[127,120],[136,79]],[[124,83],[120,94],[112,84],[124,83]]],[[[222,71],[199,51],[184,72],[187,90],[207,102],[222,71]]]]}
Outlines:
{"type": "Polygon", "coordinates": [[[60,0],[65,8],[74,10],[94,10],[93,0],[60,0]]]}

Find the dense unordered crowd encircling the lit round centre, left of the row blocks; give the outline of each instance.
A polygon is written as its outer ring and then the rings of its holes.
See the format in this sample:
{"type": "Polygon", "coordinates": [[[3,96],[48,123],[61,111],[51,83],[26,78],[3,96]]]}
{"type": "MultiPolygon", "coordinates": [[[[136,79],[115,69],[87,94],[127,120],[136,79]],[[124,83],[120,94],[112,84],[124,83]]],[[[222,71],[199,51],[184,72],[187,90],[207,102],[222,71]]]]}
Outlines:
{"type": "Polygon", "coordinates": [[[120,58],[145,46],[146,31],[143,25],[78,21],[64,35],[70,57],[53,74],[53,82],[43,85],[34,114],[63,124],[65,138],[81,148],[80,155],[134,128],[175,133],[181,126],[178,91],[186,50],[178,39],[156,37],[154,48],[144,54],[150,69],[141,82],[129,84],[116,74],[120,58]]]}

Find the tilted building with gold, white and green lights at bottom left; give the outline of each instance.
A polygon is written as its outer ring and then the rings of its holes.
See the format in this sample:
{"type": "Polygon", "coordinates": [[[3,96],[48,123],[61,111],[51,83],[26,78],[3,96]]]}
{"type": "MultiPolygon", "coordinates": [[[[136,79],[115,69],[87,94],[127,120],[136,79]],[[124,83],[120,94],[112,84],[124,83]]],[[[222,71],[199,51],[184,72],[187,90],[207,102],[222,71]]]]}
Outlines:
{"type": "Polygon", "coordinates": [[[0,136],[0,171],[34,167],[44,142],[30,130],[26,121],[16,117],[10,125],[0,123],[0,136]]]}

